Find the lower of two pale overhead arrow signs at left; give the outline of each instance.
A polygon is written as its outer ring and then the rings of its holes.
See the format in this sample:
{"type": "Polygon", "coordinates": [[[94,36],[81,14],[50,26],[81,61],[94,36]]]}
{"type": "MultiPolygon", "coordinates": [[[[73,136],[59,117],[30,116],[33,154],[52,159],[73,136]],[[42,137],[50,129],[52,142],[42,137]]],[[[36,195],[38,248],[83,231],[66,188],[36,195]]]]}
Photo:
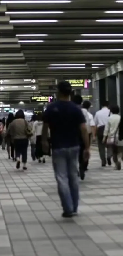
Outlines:
{"type": "Polygon", "coordinates": [[[19,85],[19,86],[0,86],[0,91],[4,92],[4,91],[38,91],[38,85],[36,84],[32,84],[32,85],[19,85]]]}

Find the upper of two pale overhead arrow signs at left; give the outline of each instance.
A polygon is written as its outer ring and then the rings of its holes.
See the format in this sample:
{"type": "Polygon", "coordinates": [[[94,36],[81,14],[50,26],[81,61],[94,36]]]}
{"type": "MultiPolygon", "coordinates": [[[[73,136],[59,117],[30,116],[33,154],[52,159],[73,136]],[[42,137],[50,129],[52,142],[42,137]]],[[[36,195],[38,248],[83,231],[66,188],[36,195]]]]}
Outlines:
{"type": "Polygon", "coordinates": [[[37,81],[35,79],[1,79],[0,84],[35,84],[37,81]]]}

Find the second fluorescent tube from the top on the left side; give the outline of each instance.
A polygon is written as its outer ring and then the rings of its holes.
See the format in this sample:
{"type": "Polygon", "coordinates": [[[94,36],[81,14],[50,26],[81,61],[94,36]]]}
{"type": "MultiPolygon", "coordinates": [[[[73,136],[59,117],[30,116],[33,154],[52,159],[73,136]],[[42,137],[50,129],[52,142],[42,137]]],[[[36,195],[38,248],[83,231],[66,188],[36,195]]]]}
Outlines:
{"type": "Polygon", "coordinates": [[[59,13],[63,13],[61,11],[30,11],[30,12],[5,12],[5,14],[59,14],[59,13]]]}

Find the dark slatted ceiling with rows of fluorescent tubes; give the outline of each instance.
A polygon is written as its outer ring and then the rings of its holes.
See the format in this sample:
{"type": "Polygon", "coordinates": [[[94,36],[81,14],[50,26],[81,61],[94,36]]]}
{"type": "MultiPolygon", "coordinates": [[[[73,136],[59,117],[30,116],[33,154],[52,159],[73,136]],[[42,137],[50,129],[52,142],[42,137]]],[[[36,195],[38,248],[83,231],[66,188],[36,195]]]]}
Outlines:
{"type": "Polygon", "coordinates": [[[88,78],[123,58],[123,3],[114,0],[0,2],[2,79],[88,78]]]}

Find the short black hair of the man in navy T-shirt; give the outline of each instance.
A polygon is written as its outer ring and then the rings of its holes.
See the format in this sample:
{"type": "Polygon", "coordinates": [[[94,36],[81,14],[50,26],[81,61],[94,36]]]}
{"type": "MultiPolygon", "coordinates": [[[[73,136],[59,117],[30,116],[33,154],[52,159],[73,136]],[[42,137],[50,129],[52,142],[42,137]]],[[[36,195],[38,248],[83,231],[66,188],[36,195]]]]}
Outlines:
{"type": "Polygon", "coordinates": [[[62,93],[64,96],[71,95],[72,87],[69,82],[61,81],[59,82],[57,88],[58,88],[58,91],[62,93]]]}

